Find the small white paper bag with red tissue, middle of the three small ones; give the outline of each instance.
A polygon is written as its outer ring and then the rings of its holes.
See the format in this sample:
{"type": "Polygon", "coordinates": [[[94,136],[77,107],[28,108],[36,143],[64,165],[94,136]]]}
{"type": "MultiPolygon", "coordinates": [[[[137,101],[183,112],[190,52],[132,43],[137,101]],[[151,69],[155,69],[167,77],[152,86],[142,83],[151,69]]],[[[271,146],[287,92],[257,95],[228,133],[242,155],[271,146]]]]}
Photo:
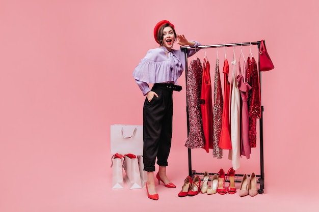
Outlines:
{"type": "Polygon", "coordinates": [[[126,172],[125,181],[128,188],[129,189],[142,188],[139,162],[135,155],[132,155],[132,154],[125,155],[124,169],[126,172]]]}

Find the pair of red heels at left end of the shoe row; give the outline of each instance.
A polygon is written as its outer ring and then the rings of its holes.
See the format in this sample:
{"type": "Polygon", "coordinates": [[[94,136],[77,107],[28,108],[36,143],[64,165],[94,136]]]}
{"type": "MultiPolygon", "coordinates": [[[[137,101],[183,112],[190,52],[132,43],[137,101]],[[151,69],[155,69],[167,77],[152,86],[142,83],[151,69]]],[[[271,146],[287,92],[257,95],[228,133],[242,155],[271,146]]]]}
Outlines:
{"type": "Polygon", "coordinates": [[[179,197],[195,196],[199,192],[201,192],[200,185],[201,185],[201,179],[199,175],[195,175],[194,179],[192,179],[192,177],[190,176],[187,176],[184,180],[184,184],[181,188],[181,191],[178,193],[178,196],[179,197]]]}

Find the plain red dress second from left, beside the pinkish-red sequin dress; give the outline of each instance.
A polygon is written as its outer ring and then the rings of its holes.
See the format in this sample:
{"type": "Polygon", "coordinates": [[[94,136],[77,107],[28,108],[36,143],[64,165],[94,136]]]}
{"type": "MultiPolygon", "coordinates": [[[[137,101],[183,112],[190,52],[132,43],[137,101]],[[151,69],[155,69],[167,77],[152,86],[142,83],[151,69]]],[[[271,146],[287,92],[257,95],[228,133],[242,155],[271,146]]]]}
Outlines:
{"type": "Polygon", "coordinates": [[[203,120],[203,132],[204,132],[204,149],[209,152],[209,148],[212,148],[212,95],[211,95],[211,81],[210,81],[210,65],[206,62],[204,58],[203,61],[203,78],[202,78],[202,88],[200,93],[201,101],[201,112],[203,120]]]}

